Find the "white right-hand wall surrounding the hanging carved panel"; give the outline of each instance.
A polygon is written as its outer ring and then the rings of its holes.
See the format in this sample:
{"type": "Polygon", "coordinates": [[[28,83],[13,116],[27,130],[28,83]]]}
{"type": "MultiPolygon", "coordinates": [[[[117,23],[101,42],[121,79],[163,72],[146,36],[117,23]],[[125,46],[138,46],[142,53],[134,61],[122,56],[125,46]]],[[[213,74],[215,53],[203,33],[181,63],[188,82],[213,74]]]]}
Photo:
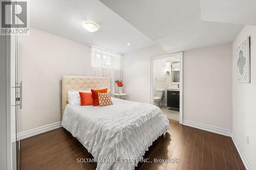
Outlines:
{"type": "Polygon", "coordinates": [[[256,27],[245,26],[237,38],[233,41],[233,134],[237,137],[243,152],[248,157],[252,166],[256,169],[256,27]],[[250,46],[250,70],[251,83],[238,83],[236,80],[236,57],[234,51],[246,39],[251,36],[250,46]],[[246,144],[246,136],[249,136],[249,145],[246,144]]]}

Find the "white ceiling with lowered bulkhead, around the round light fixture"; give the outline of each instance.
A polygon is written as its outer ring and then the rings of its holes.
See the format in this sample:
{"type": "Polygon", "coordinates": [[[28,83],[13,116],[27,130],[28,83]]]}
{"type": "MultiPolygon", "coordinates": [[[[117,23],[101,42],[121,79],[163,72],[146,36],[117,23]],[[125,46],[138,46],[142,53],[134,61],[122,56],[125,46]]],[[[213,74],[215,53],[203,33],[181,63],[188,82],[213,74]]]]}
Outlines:
{"type": "Polygon", "coordinates": [[[174,53],[230,43],[244,25],[256,25],[255,0],[33,0],[29,5],[31,28],[123,54],[156,44],[174,53]],[[100,31],[84,30],[83,20],[98,23],[100,31]]]}

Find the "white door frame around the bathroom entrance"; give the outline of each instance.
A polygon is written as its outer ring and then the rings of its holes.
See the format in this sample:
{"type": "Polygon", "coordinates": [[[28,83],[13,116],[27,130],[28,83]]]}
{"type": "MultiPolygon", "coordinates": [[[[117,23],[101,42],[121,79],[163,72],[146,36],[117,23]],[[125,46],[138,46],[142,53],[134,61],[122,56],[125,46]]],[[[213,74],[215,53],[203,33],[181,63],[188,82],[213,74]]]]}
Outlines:
{"type": "Polygon", "coordinates": [[[154,105],[154,60],[180,55],[180,124],[183,124],[183,52],[152,56],[150,59],[150,101],[154,105]],[[167,56],[168,55],[168,56],[167,56]]]}

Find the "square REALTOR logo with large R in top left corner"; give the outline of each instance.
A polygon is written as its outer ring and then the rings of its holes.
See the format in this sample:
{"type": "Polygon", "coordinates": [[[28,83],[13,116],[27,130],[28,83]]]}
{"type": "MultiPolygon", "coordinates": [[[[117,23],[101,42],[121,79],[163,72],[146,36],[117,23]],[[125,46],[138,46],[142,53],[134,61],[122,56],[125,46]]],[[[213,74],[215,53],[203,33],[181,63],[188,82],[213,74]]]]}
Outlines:
{"type": "Polygon", "coordinates": [[[1,35],[28,35],[27,1],[1,0],[1,35]]]}

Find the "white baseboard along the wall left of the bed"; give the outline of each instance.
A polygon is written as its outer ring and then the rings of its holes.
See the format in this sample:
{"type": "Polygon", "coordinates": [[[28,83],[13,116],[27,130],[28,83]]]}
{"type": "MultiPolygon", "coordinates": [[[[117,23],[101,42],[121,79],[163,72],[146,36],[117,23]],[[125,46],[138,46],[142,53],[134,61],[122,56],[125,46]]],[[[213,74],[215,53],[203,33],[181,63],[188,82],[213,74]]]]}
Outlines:
{"type": "MultiPolygon", "coordinates": [[[[54,129],[57,129],[60,127],[61,127],[61,122],[55,122],[53,124],[41,126],[38,128],[28,130],[28,131],[24,131],[24,132],[20,132],[18,134],[19,140],[26,139],[28,137],[32,137],[32,136],[35,136],[35,135],[38,135],[41,133],[45,133],[45,132],[48,132],[48,131],[51,131],[51,130],[54,130],[54,129]]],[[[14,142],[15,140],[16,140],[15,135],[12,135],[12,142],[14,142]]]]}

